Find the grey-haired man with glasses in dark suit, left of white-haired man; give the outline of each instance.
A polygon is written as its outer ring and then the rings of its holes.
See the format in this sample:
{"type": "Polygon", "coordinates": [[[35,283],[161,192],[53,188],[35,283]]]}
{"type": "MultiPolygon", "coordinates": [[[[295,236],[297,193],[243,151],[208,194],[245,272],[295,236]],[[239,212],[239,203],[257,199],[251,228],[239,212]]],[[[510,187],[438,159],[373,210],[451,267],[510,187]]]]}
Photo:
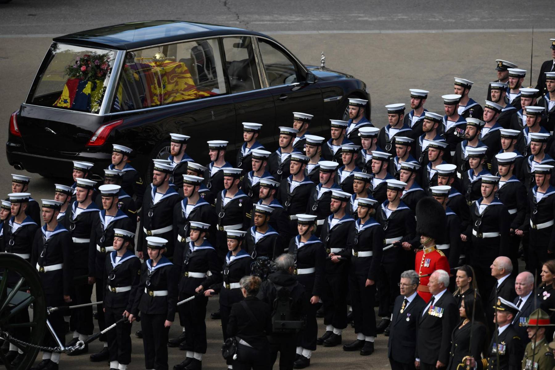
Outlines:
{"type": "Polygon", "coordinates": [[[392,370],[414,370],[416,348],[416,322],[426,302],[417,294],[418,273],[401,273],[401,295],[395,298],[391,321],[387,357],[392,370]]]}

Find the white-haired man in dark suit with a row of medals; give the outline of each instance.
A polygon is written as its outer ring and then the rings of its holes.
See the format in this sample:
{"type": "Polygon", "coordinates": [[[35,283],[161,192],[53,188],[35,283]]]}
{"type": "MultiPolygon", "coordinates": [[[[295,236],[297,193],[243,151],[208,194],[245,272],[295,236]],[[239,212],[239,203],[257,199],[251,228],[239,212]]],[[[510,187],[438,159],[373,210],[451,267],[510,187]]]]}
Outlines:
{"type": "Polygon", "coordinates": [[[447,291],[448,285],[446,271],[436,270],[430,276],[428,287],[432,298],[416,325],[415,366],[421,370],[445,367],[449,361],[451,333],[459,315],[455,298],[447,291]]]}

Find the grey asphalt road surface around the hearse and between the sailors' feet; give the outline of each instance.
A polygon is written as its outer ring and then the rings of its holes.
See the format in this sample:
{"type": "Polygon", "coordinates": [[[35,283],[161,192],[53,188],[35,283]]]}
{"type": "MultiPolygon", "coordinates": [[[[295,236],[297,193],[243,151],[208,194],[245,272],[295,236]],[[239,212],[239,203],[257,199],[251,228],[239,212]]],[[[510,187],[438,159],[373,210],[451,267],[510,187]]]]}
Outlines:
{"type": "MultiPolygon", "coordinates": [[[[272,2],[207,0],[204,2],[144,0],[118,2],[52,2],[13,0],[0,6],[0,142],[7,139],[9,115],[24,100],[34,74],[53,36],[109,24],[149,19],[188,19],[244,27],[272,34],[306,64],[319,64],[325,52],[326,66],[364,80],[372,96],[372,121],[386,123],[384,105],[407,103],[409,88],[430,90],[425,107],[442,113],[441,95],[452,93],[453,77],[475,82],[471,97],[483,103],[487,83],[495,79],[495,59],[517,63],[530,70],[531,33],[535,28],[533,84],[544,60],[549,59],[549,38],[555,37],[552,2],[523,4],[507,0],[502,7],[479,1],[428,2],[353,1],[272,2]],[[163,6],[161,4],[164,4],[163,6]],[[546,11],[548,9],[548,11],[546,11]],[[145,15],[146,14],[146,15],[145,15]],[[541,31],[541,30],[544,31],[541,31]]],[[[526,78],[527,84],[528,79],[526,78]]],[[[209,140],[210,138],[202,138],[209,140]]],[[[9,174],[0,159],[0,194],[10,192],[9,174]]],[[[70,179],[44,179],[31,174],[35,199],[52,198],[53,184],[70,179]]],[[[208,312],[216,307],[209,302],[208,312]]],[[[219,321],[208,319],[208,354],[205,369],[225,368],[220,357],[219,321]]],[[[139,325],[135,324],[135,328],[139,325]]],[[[135,330],[135,329],[134,329],[135,330]]],[[[320,325],[320,330],[323,326],[320,325]]],[[[171,329],[177,335],[179,327],[171,329]]],[[[348,328],[344,343],[355,338],[348,328]]],[[[142,342],[133,339],[130,370],[144,368],[142,342]]],[[[89,347],[99,350],[98,342],[89,347]]],[[[344,369],[387,368],[387,338],[376,339],[370,357],[347,353],[341,347],[321,348],[314,353],[311,368],[333,364],[344,369]]],[[[170,349],[170,368],[184,353],[170,349]]],[[[88,358],[62,357],[60,368],[97,368],[88,358]]],[[[102,366],[108,366],[102,364],[102,366]]]]}

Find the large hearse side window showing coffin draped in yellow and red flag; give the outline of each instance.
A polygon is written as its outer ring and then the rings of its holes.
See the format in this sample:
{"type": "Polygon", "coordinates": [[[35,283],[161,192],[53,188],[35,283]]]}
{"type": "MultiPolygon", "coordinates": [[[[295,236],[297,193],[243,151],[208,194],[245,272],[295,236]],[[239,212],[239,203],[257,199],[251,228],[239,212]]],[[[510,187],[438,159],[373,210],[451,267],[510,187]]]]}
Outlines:
{"type": "Polygon", "coordinates": [[[112,111],[159,107],[225,94],[222,68],[217,39],[127,52],[112,111]]]}

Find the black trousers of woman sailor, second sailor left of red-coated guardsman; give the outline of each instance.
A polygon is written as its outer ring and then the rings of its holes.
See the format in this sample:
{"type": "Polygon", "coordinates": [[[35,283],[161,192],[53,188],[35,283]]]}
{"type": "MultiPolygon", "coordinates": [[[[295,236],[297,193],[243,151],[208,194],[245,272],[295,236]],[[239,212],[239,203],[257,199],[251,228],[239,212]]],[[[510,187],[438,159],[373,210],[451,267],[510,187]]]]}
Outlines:
{"type": "Polygon", "coordinates": [[[355,333],[376,336],[376,283],[366,287],[366,276],[349,274],[349,291],[351,292],[352,315],[355,321],[355,333]]]}

